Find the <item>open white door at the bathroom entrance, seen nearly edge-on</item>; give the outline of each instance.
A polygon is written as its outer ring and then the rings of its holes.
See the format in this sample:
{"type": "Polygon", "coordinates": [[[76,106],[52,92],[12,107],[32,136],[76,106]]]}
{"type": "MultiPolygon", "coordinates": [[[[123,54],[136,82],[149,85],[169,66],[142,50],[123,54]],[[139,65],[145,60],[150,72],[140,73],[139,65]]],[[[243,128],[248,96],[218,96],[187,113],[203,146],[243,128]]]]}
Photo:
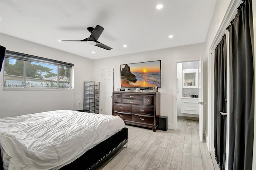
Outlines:
{"type": "Polygon", "coordinates": [[[203,102],[203,61],[202,61],[202,57],[200,57],[200,61],[199,61],[199,71],[198,71],[198,87],[199,87],[199,138],[200,138],[200,142],[203,141],[203,106],[204,106],[204,102],[203,102]]]}

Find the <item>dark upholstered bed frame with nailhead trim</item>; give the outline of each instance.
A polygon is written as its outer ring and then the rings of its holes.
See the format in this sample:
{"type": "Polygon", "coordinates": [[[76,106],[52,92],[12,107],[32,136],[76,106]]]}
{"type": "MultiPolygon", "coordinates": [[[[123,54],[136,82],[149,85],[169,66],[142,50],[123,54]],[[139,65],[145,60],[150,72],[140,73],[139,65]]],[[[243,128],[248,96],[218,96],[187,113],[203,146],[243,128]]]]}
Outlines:
{"type": "MultiPolygon", "coordinates": [[[[128,142],[128,128],[123,128],[113,136],[94,146],[85,152],[82,156],[68,165],[63,166],[60,170],[94,170],[112,156],[118,149],[128,142]]],[[[0,152],[1,154],[1,152],[0,152]]],[[[0,159],[0,170],[3,170],[2,157],[0,159]]]]}

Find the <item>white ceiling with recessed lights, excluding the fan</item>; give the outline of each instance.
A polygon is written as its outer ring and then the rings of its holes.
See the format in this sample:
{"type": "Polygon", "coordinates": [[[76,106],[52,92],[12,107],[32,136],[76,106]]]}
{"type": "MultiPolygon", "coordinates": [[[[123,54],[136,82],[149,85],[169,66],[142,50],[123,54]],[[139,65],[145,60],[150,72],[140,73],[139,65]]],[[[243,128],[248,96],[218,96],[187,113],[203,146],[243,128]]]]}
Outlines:
{"type": "Polygon", "coordinates": [[[0,0],[0,32],[100,59],[205,42],[215,4],[216,0],[0,0]],[[163,8],[156,9],[158,4],[163,8]],[[110,51],[58,41],[83,40],[90,36],[87,27],[97,24],[105,28],[98,41],[112,47],[110,51]]]}

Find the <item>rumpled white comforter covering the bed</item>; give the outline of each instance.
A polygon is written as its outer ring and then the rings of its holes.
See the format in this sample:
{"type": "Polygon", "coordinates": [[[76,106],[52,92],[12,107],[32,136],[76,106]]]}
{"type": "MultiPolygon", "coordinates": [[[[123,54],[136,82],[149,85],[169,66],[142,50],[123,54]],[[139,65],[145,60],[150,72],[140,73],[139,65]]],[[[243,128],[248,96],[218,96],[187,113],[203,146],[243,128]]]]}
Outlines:
{"type": "Polygon", "coordinates": [[[61,167],[124,127],[118,116],[70,110],[1,118],[4,164],[9,170],[61,167]]]}

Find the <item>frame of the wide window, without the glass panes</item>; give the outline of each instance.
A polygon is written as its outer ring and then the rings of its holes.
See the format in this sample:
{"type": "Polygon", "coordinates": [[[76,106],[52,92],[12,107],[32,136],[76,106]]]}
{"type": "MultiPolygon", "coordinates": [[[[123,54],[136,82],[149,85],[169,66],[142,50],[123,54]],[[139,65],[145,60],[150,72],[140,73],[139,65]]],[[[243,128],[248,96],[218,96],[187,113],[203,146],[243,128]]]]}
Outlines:
{"type": "Polygon", "coordinates": [[[23,79],[24,79],[24,85],[22,87],[4,87],[4,80],[5,80],[5,59],[3,63],[3,84],[2,88],[3,90],[74,90],[74,64],[72,63],[66,63],[63,61],[58,61],[54,59],[48,59],[44,57],[38,57],[35,55],[29,55],[24,53],[18,53],[15,51],[9,51],[6,50],[5,52],[5,58],[9,59],[18,59],[23,61],[23,79]],[[36,63],[42,63],[42,64],[49,64],[54,65],[57,67],[57,77],[59,77],[59,69],[60,67],[66,67],[70,69],[70,87],[60,87],[59,78],[57,78],[57,87],[26,87],[26,62],[36,62],[36,63]]]}

